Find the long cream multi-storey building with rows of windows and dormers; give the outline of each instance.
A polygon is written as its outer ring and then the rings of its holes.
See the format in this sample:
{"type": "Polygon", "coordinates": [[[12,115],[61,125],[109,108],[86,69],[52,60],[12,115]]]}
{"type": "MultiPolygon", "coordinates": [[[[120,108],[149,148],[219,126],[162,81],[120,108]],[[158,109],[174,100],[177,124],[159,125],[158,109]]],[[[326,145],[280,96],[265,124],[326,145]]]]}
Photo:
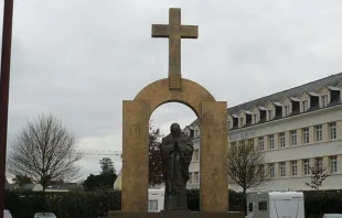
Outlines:
{"type": "MultiPolygon", "coordinates": [[[[272,177],[252,192],[309,189],[304,182],[310,182],[314,162],[331,175],[320,189],[342,188],[341,90],[342,73],[227,109],[228,148],[242,141],[260,148],[272,177]]],[[[199,188],[200,123],[184,131],[193,137],[195,149],[188,187],[199,188]]]]}

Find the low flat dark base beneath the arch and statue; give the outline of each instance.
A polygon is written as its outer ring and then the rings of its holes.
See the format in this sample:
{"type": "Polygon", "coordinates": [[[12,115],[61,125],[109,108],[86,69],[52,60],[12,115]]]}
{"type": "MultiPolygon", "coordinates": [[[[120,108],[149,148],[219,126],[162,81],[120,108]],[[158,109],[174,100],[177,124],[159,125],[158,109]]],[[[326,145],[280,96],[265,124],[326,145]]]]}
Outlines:
{"type": "Polygon", "coordinates": [[[162,211],[162,212],[122,212],[109,211],[108,218],[245,218],[242,211],[162,211]]]}

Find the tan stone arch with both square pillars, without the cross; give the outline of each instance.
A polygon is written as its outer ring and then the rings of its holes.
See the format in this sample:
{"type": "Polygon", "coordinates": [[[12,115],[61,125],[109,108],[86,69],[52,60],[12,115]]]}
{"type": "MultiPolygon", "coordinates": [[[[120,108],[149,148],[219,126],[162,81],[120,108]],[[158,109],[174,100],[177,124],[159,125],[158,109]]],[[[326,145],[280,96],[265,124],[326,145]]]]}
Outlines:
{"type": "Polygon", "coordinates": [[[122,211],[148,210],[148,131],[152,112],[167,102],[189,106],[201,122],[200,187],[202,211],[227,211],[227,105],[201,85],[181,80],[170,90],[169,79],[146,86],[133,100],[122,103],[122,211]]]}

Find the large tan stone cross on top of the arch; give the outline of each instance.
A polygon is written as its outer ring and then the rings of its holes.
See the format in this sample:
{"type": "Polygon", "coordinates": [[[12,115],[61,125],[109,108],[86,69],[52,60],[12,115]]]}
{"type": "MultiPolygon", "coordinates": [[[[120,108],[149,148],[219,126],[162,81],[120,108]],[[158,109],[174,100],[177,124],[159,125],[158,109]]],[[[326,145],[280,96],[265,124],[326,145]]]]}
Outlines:
{"type": "Polygon", "coordinates": [[[169,24],[152,24],[152,37],[169,37],[169,88],[182,88],[181,39],[197,39],[196,25],[181,24],[181,9],[169,10],[169,24]]]}

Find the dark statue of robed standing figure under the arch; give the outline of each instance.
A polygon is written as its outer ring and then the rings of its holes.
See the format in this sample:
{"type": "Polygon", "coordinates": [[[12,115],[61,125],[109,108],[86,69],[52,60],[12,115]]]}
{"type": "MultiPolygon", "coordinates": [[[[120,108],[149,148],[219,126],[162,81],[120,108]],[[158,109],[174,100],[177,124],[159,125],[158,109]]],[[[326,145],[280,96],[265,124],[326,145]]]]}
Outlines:
{"type": "Polygon", "coordinates": [[[162,172],[165,183],[164,210],[186,210],[186,182],[193,154],[192,140],[181,131],[178,123],[171,124],[171,133],[160,145],[162,172]]]}

